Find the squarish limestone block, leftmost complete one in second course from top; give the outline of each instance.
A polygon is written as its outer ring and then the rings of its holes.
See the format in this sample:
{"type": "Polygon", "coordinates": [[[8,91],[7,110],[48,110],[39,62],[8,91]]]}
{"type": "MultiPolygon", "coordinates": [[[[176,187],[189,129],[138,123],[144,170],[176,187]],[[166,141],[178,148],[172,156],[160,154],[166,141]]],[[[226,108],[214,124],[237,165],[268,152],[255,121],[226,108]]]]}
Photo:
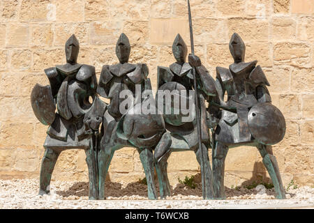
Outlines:
{"type": "Polygon", "coordinates": [[[10,24],[8,27],[6,46],[7,47],[28,47],[29,25],[10,24]]]}

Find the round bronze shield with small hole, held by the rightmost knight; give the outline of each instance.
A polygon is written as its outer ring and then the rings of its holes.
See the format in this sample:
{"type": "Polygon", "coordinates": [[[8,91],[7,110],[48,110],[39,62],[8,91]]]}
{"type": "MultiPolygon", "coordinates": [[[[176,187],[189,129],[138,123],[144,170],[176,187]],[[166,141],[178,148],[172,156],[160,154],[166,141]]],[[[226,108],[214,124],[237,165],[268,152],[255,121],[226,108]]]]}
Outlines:
{"type": "Polygon", "coordinates": [[[248,112],[248,128],[261,144],[274,145],[285,136],[285,117],[270,103],[258,103],[248,112]]]}

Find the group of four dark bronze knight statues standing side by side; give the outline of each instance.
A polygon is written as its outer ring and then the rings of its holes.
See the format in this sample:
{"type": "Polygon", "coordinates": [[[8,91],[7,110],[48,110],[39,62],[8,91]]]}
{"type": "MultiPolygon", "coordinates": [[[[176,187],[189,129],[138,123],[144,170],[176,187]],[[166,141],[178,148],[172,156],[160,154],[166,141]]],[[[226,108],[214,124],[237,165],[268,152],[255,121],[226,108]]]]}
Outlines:
{"type": "Polygon", "coordinates": [[[186,62],[188,49],[178,34],[172,45],[176,61],[169,68],[158,67],[156,100],[147,65],[128,63],[130,43],[124,33],[116,45],[119,63],[103,66],[99,82],[93,66],[77,63],[80,46],[74,35],[65,49],[66,64],[45,70],[50,86],[36,84],[31,92],[33,112],[41,123],[49,125],[39,194],[50,192],[52,171],[61,151],[81,148],[87,155],[89,199],[105,199],[105,178],[114,151],[133,147],[140,153],[149,199],[158,198],[154,169],[160,197],[171,196],[167,158],[174,151],[190,150],[202,167],[204,199],[225,199],[224,163],[228,148],[247,145],[260,151],[276,197],[285,199],[271,150],[271,145],[283,139],[285,118],[271,105],[269,82],[262,68],[256,66],[257,61],[244,62],[245,45],[237,33],[230,40],[234,63],[229,68],[217,67],[216,81],[199,57],[190,54],[186,62]],[[197,140],[195,90],[202,146],[197,140]],[[165,95],[160,95],[165,92],[172,93],[169,105],[163,100],[165,95]],[[144,108],[150,112],[144,112],[144,108]],[[213,148],[212,170],[209,148],[213,148]]]}

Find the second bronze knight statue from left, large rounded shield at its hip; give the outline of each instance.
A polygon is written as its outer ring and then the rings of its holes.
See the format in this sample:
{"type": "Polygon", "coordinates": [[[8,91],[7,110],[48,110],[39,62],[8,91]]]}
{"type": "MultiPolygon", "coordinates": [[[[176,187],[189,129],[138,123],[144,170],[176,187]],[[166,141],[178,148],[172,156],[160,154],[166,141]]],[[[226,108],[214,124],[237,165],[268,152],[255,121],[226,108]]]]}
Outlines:
{"type": "Polygon", "coordinates": [[[124,33],[117,41],[116,54],[119,63],[103,66],[97,88],[101,96],[110,99],[103,116],[103,137],[98,153],[99,197],[105,199],[105,178],[114,151],[133,147],[140,153],[147,178],[148,197],[157,199],[153,149],[165,132],[165,123],[159,114],[142,113],[142,102],[154,100],[152,95],[151,98],[142,98],[145,90],[151,91],[151,82],[147,78],[149,69],[145,63],[128,63],[130,43],[124,33]],[[124,103],[126,101],[130,103],[124,103]]]}

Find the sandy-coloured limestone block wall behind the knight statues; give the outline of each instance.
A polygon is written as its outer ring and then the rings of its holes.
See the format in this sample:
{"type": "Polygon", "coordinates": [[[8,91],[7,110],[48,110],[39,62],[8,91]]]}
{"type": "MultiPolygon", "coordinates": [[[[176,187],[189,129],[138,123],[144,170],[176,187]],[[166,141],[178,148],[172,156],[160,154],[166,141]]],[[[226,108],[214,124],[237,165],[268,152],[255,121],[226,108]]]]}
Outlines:
{"type": "MultiPolygon", "coordinates": [[[[285,139],[274,146],[285,185],[314,184],[314,1],[190,0],[195,51],[213,77],[216,66],[232,63],[228,43],[237,32],[246,43],[246,61],[257,59],[271,83],[269,90],[287,121],[285,139]]],[[[185,0],[1,0],[0,1],[0,178],[37,178],[47,126],[33,115],[31,89],[48,84],[44,68],[65,63],[64,43],[75,33],[79,63],[117,63],[120,33],[130,38],[130,62],[147,63],[156,87],[156,67],[174,61],[172,41],[181,33],[189,45],[185,0]]],[[[211,152],[211,151],[210,151],[211,152]]],[[[227,186],[262,176],[269,180],[256,148],[230,149],[225,162],[227,186]]],[[[197,175],[193,152],[172,153],[169,176],[197,175]]],[[[143,178],[133,148],[118,151],[109,178],[143,178]]],[[[87,181],[84,151],[65,151],[53,179],[87,181]]]]}

